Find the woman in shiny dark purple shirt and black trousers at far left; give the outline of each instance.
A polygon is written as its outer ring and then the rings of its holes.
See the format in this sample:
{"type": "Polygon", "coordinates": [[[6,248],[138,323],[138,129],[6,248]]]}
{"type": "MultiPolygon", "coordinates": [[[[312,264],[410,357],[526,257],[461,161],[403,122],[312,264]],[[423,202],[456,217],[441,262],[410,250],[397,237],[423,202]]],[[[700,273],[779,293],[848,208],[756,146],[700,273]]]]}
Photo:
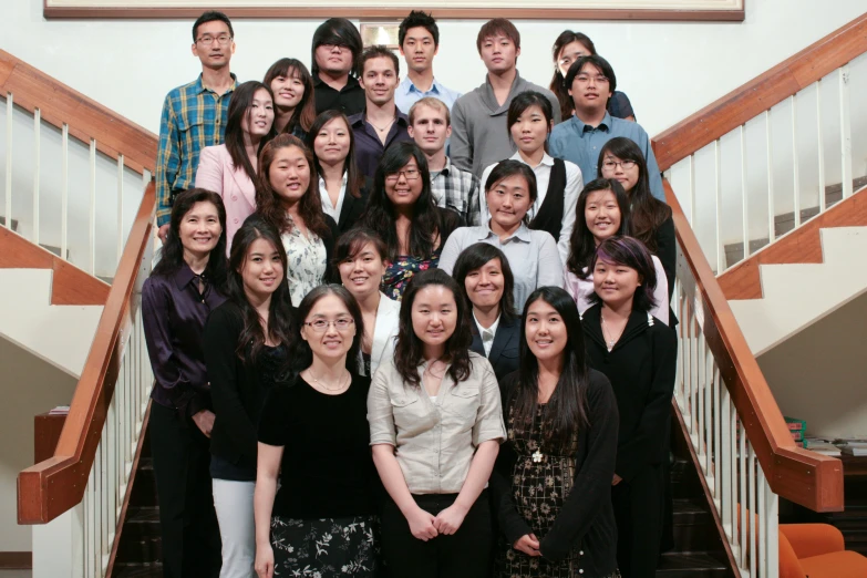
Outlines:
{"type": "Polygon", "coordinates": [[[175,198],[159,262],[142,288],[154,369],[154,456],[166,576],[219,575],[219,528],[210,500],[208,438],[214,405],[202,351],[208,313],[226,300],[226,209],[216,193],[175,198]],[[193,520],[192,523],[185,520],[193,520]]]}

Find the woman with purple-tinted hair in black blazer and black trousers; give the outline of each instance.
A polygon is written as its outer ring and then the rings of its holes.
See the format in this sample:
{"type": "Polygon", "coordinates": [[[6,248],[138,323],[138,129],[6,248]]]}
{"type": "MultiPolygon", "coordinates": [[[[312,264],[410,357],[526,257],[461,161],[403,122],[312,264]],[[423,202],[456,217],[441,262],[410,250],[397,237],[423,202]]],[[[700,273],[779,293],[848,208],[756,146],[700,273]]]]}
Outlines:
{"type": "Polygon", "coordinates": [[[603,240],[592,270],[598,302],[584,314],[587,355],[590,367],[611,380],[620,413],[611,482],[617,560],[625,578],[653,578],[664,526],[678,342],[649,312],[657,273],[641,241],[603,240]]]}

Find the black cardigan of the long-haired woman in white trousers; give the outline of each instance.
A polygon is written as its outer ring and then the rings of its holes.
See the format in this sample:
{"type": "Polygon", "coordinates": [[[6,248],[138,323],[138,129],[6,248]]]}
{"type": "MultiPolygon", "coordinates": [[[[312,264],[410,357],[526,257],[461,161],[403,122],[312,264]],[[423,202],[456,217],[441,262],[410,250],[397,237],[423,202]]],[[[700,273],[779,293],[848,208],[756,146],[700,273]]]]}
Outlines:
{"type": "Polygon", "coordinates": [[[257,427],[269,388],[259,379],[257,363],[235,353],[244,330],[240,308],[231,300],[210,312],[205,323],[205,365],[214,400],[210,453],[256,474],[257,427]]]}

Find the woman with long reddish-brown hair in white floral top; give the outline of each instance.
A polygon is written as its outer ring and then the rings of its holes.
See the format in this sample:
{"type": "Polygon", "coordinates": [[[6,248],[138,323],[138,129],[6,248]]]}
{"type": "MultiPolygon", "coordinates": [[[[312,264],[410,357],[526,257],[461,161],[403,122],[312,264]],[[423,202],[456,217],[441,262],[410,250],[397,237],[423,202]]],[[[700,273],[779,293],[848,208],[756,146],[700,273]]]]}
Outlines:
{"type": "Polygon", "coordinates": [[[322,211],[313,155],[296,136],[280,134],[259,155],[257,213],[280,231],[286,248],[292,303],[333,273],[331,249],[338,237],[334,219],[322,211]]]}

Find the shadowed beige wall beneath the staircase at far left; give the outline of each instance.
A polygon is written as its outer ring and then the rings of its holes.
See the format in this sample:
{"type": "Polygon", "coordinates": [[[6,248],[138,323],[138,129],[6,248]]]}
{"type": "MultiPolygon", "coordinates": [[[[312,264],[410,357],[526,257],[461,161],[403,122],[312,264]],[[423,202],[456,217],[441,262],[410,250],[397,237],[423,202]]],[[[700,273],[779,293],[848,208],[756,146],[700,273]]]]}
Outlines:
{"type": "Polygon", "coordinates": [[[33,465],[33,416],[69,405],[75,380],[0,338],[0,551],[30,551],[31,528],[18,525],[18,473],[33,465]]]}

